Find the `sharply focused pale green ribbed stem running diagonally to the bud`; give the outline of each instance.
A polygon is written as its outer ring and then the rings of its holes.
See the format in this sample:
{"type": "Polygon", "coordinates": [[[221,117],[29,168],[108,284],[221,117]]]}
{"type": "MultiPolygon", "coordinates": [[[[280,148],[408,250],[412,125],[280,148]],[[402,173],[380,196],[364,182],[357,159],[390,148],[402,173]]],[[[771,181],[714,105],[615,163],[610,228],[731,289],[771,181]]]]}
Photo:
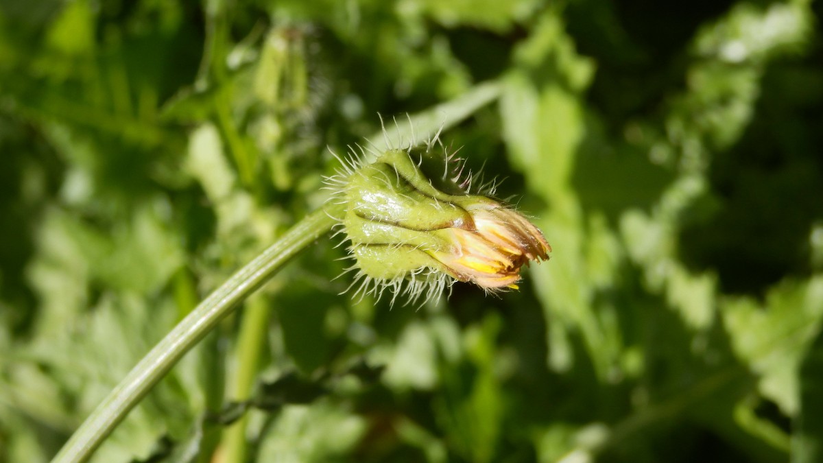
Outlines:
{"type": "Polygon", "coordinates": [[[315,211],[296,223],[195,307],[98,405],[60,449],[53,463],[88,461],[100,443],[189,349],[288,260],[328,232],[336,222],[330,216],[342,215],[337,208],[342,206],[330,203],[326,209],[315,211]]]}

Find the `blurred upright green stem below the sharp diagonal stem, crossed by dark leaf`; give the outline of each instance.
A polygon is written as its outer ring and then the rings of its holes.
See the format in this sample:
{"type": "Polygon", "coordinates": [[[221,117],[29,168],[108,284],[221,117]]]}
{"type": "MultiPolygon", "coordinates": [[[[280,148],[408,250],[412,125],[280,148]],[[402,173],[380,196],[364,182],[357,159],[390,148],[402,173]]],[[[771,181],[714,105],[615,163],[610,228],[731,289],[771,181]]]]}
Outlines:
{"type": "MultiPolygon", "coordinates": [[[[246,302],[243,320],[240,322],[240,333],[235,351],[237,365],[234,379],[235,384],[231,391],[232,399],[247,400],[254,386],[257,376],[260,354],[262,353],[266,333],[268,332],[268,316],[271,311],[263,297],[252,297],[246,302]]],[[[223,450],[224,461],[246,461],[246,426],[249,414],[244,414],[230,428],[226,429],[223,450]]]]}

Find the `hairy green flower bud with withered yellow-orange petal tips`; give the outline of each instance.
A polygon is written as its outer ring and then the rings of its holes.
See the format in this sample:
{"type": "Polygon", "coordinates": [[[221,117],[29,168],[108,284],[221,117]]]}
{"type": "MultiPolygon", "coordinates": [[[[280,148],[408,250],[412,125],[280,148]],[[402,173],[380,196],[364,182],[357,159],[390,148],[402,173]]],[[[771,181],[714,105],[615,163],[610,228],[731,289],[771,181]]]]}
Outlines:
{"type": "Polygon", "coordinates": [[[388,149],[371,163],[341,159],[344,171],[328,179],[346,205],[355,294],[392,288],[416,302],[455,280],[492,292],[518,288],[523,264],[548,260],[551,246],[520,213],[469,194],[471,176],[461,179],[453,156],[435,156],[431,146],[388,149]]]}

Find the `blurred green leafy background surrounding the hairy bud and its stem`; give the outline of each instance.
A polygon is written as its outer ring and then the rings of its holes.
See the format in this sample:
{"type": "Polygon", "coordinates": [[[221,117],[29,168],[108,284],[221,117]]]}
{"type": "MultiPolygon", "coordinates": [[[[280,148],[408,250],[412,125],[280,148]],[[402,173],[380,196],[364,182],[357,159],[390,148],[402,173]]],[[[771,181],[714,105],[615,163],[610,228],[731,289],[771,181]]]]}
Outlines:
{"type": "Polygon", "coordinates": [[[823,461],[821,16],[2,0],[0,461],[48,461],[318,208],[327,146],[461,108],[445,142],[554,248],[519,292],[353,302],[320,241],[95,461],[823,461]]]}

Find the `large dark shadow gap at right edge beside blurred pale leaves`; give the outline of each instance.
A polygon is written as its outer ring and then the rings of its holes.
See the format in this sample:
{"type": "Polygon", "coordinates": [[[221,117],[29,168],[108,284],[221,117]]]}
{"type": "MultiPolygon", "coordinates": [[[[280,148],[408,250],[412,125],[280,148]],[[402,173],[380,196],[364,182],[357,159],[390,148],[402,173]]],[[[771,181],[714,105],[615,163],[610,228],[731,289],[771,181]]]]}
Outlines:
{"type": "Polygon", "coordinates": [[[802,62],[770,66],[755,119],[712,160],[713,212],[684,227],[681,258],[692,269],[714,269],[723,291],[762,294],[811,271],[811,224],[823,218],[820,63],[818,47],[802,62]]]}

